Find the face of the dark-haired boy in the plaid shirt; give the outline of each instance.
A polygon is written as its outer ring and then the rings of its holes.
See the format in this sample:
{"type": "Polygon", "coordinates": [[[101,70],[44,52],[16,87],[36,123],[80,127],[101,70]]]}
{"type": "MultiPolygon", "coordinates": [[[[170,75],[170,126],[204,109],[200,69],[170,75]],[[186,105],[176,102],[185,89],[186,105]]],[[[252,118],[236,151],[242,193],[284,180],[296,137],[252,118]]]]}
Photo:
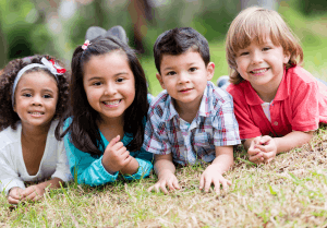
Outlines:
{"type": "Polygon", "coordinates": [[[160,64],[161,74],[157,73],[157,79],[161,87],[175,99],[177,106],[196,107],[214,71],[213,62],[206,67],[197,51],[187,50],[179,56],[165,55],[160,64]]]}

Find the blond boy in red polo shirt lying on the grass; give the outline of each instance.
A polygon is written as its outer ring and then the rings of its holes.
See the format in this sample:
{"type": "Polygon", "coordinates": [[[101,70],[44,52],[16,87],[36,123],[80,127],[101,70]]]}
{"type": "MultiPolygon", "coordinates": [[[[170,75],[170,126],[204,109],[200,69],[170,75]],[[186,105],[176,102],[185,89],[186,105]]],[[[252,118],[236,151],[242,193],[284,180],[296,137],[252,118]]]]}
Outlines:
{"type": "Polygon", "coordinates": [[[327,122],[327,86],[299,64],[302,48],[280,15],[249,8],[227,35],[240,136],[253,163],[269,163],[301,146],[327,122]],[[298,61],[299,59],[299,61],[298,61]]]}

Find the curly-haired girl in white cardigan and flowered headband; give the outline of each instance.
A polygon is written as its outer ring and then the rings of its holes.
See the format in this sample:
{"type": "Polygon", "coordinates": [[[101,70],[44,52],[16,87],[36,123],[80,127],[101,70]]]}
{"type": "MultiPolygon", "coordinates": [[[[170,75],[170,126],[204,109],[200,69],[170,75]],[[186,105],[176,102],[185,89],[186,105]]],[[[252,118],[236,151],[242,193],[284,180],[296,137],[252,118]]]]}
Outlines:
{"type": "Polygon", "coordinates": [[[16,59],[1,75],[0,190],[11,204],[37,201],[71,179],[63,142],[55,137],[68,100],[66,73],[57,63],[49,56],[16,59]],[[25,188],[24,181],[44,182],[25,188]]]}

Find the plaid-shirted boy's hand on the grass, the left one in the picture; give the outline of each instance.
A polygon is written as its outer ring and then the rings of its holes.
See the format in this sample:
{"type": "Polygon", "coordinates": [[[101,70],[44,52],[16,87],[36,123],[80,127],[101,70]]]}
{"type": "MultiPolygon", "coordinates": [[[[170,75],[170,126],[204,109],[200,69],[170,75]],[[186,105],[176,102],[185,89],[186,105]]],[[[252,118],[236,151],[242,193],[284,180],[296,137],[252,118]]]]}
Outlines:
{"type": "Polygon", "coordinates": [[[160,173],[158,182],[155,185],[152,185],[150,188],[148,188],[147,191],[152,192],[153,190],[155,190],[156,192],[159,192],[161,189],[161,191],[165,194],[168,194],[169,192],[167,191],[166,185],[168,185],[171,191],[180,189],[177,177],[170,170],[162,171],[160,173]]]}

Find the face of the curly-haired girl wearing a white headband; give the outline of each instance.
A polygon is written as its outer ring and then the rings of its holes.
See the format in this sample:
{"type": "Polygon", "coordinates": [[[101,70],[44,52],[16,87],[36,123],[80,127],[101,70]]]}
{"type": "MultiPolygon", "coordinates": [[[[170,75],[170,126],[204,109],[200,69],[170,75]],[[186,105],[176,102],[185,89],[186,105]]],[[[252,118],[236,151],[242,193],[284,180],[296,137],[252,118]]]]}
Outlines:
{"type": "Polygon", "coordinates": [[[46,127],[56,113],[57,101],[56,79],[45,72],[31,72],[16,86],[14,111],[23,127],[46,127]]]}

